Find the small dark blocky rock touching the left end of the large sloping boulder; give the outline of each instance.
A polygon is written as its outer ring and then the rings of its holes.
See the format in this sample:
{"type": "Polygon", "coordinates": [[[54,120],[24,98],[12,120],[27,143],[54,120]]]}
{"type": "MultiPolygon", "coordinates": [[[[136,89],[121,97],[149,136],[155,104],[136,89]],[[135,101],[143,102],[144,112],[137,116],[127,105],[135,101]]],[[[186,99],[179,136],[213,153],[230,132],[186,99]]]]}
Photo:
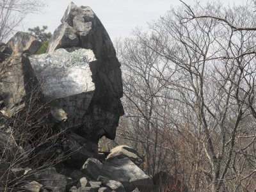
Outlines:
{"type": "Polygon", "coordinates": [[[92,179],[97,180],[102,170],[102,166],[103,164],[98,159],[90,157],[84,163],[81,172],[88,175],[92,179]]]}

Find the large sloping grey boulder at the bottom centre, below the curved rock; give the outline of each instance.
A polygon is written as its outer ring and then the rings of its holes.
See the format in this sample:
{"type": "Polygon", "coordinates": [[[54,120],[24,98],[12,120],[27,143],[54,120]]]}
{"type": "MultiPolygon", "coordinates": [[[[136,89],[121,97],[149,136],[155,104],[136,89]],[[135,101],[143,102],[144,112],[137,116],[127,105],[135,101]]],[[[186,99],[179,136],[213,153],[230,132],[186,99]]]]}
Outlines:
{"type": "Polygon", "coordinates": [[[150,191],[153,188],[150,177],[127,157],[107,161],[103,164],[100,175],[121,182],[126,191],[132,191],[135,188],[140,191],[150,191]]]}

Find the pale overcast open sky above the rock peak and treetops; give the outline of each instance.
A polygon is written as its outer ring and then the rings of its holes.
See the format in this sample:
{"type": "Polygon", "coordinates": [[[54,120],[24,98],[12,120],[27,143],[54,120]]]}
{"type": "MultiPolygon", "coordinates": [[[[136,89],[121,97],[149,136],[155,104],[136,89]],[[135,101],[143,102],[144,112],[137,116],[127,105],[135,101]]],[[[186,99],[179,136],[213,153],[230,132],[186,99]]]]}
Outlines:
{"type": "MultiPolygon", "coordinates": [[[[194,0],[183,0],[195,4],[194,0]]],[[[220,0],[225,5],[246,4],[250,0],[220,0]]],[[[20,30],[27,31],[35,26],[48,26],[53,32],[70,3],[70,0],[44,0],[47,4],[37,14],[28,15],[20,25],[20,30]]],[[[147,28],[147,23],[164,15],[170,6],[177,6],[179,0],[73,0],[77,6],[90,6],[101,20],[111,39],[131,35],[132,29],[147,28]]],[[[205,3],[206,0],[201,0],[205,3]]]]}

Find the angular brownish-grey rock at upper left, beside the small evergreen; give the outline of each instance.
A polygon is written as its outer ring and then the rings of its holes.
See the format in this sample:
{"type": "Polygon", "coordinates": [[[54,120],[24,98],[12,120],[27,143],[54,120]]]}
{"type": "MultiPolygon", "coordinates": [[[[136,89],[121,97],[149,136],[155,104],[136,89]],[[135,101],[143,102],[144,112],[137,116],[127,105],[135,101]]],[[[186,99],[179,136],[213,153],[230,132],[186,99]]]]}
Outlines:
{"type": "Polygon", "coordinates": [[[17,32],[7,43],[12,49],[12,55],[17,56],[22,53],[35,54],[42,46],[42,42],[36,40],[35,36],[24,32],[17,32]]]}

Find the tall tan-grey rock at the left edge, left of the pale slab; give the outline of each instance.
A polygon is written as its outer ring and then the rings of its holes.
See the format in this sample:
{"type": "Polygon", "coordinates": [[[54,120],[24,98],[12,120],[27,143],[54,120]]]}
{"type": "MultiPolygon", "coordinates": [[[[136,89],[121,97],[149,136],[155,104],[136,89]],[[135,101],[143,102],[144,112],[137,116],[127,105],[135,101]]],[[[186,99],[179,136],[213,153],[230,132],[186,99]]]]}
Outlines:
{"type": "MultiPolygon", "coordinates": [[[[36,90],[36,77],[26,56],[12,56],[1,63],[0,95],[4,115],[12,116],[24,107],[24,102],[36,90]]],[[[40,90],[40,89],[38,89],[40,90]]]]}

